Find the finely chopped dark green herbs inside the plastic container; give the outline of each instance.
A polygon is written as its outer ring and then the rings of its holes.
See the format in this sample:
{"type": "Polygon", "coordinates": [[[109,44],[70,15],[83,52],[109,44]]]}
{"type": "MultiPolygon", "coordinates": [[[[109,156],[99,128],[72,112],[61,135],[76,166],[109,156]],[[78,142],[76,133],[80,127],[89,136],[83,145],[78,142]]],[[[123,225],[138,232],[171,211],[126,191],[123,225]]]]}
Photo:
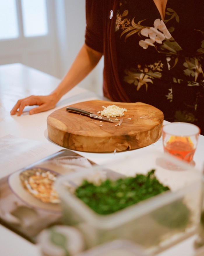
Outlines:
{"type": "Polygon", "coordinates": [[[75,195],[96,213],[111,214],[169,190],[157,180],[154,172],[151,170],[147,175],[137,174],[116,181],[107,179],[100,185],[84,180],[75,195]]]}

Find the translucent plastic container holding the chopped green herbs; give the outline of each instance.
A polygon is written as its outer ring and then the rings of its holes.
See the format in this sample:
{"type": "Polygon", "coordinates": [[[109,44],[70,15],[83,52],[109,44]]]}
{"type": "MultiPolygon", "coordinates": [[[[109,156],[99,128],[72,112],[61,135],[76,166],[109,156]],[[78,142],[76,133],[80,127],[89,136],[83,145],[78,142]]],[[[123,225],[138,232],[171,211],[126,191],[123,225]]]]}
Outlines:
{"type": "Polygon", "coordinates": [[[64,224],[77,226],[88,248],[125,239],[143,246],[147,252],[158,253],[194,234],[200,221],[201,171],[157,151],[132,154],[121,161],[75,172],[58,178],[55,185],[62,202],[64,224]],[[146,174],[152,169],[170,191],[112,214],[97,214],[72,193],[83,179],[97,181],[101,175],[117,179],[146,174]]]}

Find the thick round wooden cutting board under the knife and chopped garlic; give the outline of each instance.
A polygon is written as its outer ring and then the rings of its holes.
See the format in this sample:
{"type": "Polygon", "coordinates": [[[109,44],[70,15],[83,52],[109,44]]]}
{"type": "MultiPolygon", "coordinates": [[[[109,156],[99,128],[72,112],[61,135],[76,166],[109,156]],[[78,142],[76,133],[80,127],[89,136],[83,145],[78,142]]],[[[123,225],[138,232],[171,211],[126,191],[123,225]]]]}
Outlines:
{"type": "Polygon", "coordinates": [[[118,117],[123,118],[120,126],[68,112],[66,106],[48,116],[48,137],[62,147],[84,152],[132,150],[150,145],[161,137],[163,113],[154,106],[141,102],[102,100],[79,102],[69,106],[97,114],[103,110],[102,106],[113,104],[127,109],[123,117],[118,117]]]}

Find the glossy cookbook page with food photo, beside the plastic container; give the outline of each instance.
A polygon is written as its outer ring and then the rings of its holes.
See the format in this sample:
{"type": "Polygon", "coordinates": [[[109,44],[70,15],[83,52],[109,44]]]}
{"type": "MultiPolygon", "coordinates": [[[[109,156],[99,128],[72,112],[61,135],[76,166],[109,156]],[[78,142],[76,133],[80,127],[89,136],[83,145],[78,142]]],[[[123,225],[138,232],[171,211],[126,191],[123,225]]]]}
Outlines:
{"type": "Polygon", "coordinates": [[[53,188],[61,175],[94,165],[70,150],[61,150],[0,180],[0,224],[32,243],[44,229],[61,222],[53,188]]]}

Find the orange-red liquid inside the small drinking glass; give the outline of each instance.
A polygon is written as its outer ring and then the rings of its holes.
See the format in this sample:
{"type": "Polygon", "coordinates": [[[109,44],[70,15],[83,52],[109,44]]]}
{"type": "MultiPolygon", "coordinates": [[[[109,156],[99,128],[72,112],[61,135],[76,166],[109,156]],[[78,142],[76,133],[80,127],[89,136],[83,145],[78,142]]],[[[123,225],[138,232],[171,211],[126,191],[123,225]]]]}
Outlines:
{"type": "Polygon", "coordinates": [[[195,148],[193,147],[191,140],[179,140],[178,138],[176,139],[176,137],[172,137],[166,143],[166,146],[164,146],[164,152],[168,152],[175,157],[191,162],[195,153],[195,148]]]}

